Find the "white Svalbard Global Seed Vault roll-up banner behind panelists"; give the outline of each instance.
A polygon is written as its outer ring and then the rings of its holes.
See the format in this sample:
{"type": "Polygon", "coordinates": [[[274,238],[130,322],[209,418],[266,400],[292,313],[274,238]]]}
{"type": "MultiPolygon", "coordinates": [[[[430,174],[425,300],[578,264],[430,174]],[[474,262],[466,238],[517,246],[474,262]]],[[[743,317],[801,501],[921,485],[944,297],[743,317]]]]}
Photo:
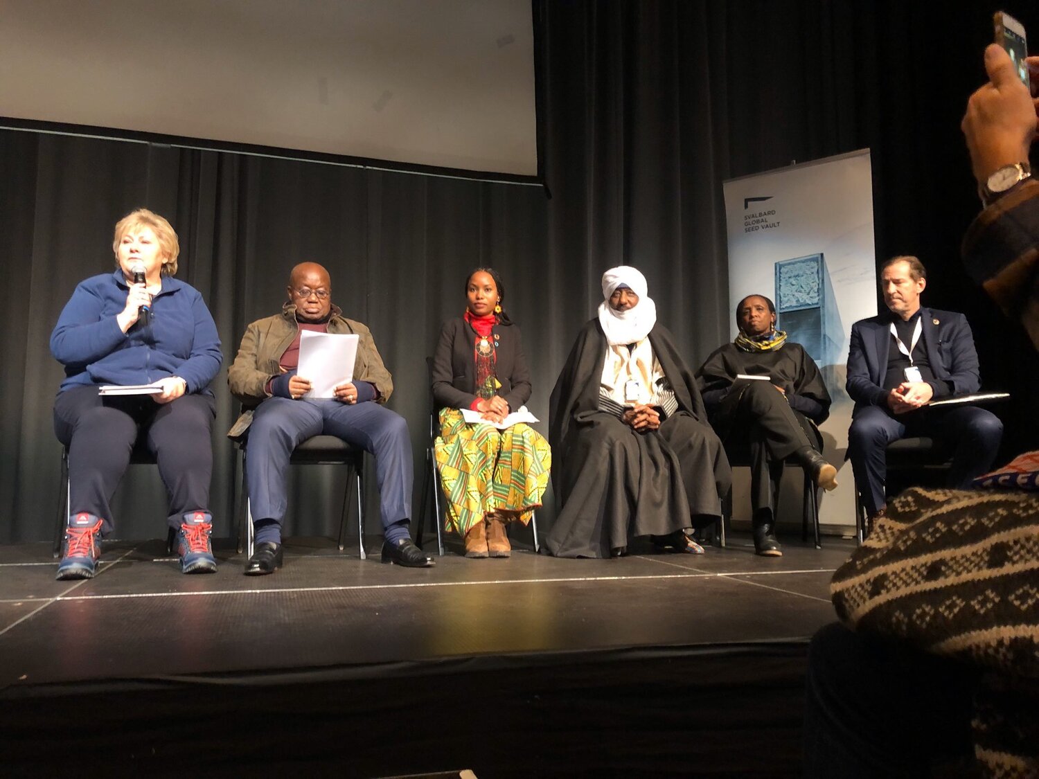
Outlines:
{"type": "MultiPolygon", "coordinates": [[[[766,295],[776,304],[776,326],[819,365],[833,398],[821,426],[824,454],[841,483],[820,502],[820,521],[854,527],[855,485],[844,461],[853,404],[844,386],[851,325],[877,313],[870,151],[732,179],[723,189],[732,338],[737,303],[766,295]]],[[[744,483],[737,482],[734,509],[749,516],[744,483]]],[[[779,521],[800,521],[800,489],[793,489],[800,483],[798,474],[784,487],[779,521]]]]}

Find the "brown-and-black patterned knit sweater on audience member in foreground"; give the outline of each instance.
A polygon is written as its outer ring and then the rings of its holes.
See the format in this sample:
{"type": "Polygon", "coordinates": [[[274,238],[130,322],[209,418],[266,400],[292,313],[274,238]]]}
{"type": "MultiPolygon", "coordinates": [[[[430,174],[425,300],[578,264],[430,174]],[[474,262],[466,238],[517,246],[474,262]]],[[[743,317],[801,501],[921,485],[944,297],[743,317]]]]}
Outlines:
{"type": "Polygon", "coordinates": [[[987,671],[986,776],[1039,775],[1039,492],[913,487],[833,575],[837,616],[987,671]]]}

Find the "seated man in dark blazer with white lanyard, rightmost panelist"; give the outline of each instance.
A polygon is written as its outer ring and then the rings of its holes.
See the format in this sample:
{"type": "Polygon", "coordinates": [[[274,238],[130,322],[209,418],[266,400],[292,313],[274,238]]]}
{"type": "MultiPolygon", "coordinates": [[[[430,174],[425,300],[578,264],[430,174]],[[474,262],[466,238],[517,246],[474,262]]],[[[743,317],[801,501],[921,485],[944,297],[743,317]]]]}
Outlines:
{"type": "Polygon", "coordinates": [[[914,257],[884,263],[880,285],[889,311],[852,325],[846,385],[855,401],[848,456],[871,517],[885,507],[885,452],[893,440],[940,440],[953,453],[950,486],[963,487],[991,467],[1003,437],[1003,423],[983,408],[926,408],[981,386],[966,317],[921,307],[927,271],[914,257]]]}

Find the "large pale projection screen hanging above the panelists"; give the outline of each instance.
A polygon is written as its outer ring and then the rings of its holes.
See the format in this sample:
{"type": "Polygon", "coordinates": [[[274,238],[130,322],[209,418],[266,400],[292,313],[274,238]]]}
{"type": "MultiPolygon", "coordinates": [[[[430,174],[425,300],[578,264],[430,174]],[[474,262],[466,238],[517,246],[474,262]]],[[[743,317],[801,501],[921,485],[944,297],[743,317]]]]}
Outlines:
{"type": "Polygon", "coordinates": [[[535,7],[0,0],[0,125],[533,183],[535,7]]]}

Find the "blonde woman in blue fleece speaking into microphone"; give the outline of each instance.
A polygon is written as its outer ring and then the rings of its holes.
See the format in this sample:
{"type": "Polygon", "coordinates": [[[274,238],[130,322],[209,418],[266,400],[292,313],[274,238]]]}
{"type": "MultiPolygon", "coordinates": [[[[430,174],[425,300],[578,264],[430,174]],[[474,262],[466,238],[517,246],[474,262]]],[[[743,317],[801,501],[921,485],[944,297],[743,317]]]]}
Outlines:
{"type": "Polygon", "coordinates": [[[169,498],[185,573],[216,570],[209,536],[209,382],[222,355],[202,295],[176,278],[180,245],[169,222],[139,209],[115,225],[114,273],[76,287],[51,333],[65,379],[54,431],[69,450],[70,515],[57,577],[90,579],[101,536],[112,529],[109,500],[138,437],[155,455],[169,498]],[[151,385],[101,395],[103,385],[151,385]]]}

